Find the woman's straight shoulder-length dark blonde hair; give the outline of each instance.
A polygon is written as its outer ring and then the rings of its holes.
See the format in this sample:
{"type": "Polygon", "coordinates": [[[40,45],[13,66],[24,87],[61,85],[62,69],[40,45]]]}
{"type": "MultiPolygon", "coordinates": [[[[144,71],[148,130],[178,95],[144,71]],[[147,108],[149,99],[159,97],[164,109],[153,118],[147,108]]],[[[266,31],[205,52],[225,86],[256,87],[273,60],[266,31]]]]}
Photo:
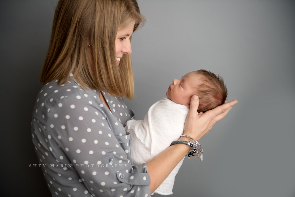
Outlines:
{"type": "Polygon", "coordinates": [[[131,57],[124,54],[118,66],[115,52],[118,28],[132,22],[133,32],[145,22],[136,0],[60,0],[40,82],[65,84],[72,73],[83,88],[104,90],[103,84],[110,95],[132,99],[131,57]]]}

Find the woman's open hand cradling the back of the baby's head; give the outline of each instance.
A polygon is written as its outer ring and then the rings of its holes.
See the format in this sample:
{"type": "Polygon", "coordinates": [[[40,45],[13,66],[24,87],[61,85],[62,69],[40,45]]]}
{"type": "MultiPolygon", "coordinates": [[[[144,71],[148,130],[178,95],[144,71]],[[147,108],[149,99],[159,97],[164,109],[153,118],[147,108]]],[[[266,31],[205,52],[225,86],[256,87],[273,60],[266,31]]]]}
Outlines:
{"type": "Polygon", "coordinates": [[[187,115],[184,123],[183,134],[191,136],[193,139],[198,141],[217,121],[224,118],[235,104],[237,104],[237,100],[232,100],[214,108],[213,110],[209,110],[204,114],[199,113],[199,115],[197,115],[199,97],[196,95],[192,96],[189,114],[187,115]]]}

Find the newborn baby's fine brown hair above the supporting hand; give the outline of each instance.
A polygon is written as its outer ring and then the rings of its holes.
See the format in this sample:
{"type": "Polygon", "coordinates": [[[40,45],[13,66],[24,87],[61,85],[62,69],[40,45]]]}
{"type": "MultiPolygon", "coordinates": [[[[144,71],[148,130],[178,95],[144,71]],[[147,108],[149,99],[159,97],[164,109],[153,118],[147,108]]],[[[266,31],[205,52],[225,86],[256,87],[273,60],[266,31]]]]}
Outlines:
{"type": "Polygon", "coordinates": [[[214,73],[204,69],[196,72],[201,76],[201,84],[196,87],[196,92],[193,94],[199,97],[198,112],[205,113],[224,104],[228,92],[223,78],[219,74],[216,76],[214,73]]]}

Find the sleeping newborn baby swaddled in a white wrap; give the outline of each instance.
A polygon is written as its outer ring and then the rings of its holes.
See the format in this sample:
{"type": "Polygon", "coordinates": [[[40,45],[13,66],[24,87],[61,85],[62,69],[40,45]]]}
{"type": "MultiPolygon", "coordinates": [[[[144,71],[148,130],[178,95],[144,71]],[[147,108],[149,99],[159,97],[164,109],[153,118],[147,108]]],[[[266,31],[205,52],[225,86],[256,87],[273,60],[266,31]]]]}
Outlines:
{"type": "MultiPolygon", "coordinates": [[[[129,144],[133,165],[148,162],[180,138],[193,95],[199,97],[198,113],[204,113],[224,104],[227,88],[222,77],[206,70],[193,71],[179,80],[174,79],[166,92],[167,98],[153,104],[144,120],[126,123],[125,129],[131,133],[129,144]]],[[[174,179],[183,159],[154,193],[172,194],[174,179]]]]}

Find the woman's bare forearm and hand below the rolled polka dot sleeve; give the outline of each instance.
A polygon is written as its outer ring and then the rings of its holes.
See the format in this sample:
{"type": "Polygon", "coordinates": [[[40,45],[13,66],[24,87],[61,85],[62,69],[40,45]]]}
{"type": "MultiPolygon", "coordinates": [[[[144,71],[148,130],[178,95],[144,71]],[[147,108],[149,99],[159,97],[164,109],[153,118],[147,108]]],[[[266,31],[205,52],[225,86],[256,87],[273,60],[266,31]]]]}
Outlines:
{"type": "MultiPolygon", "coordinates": [[[[230,111],[237,100],[225,103],[206,113],[197,115],[199,106],[199,98],[193,96],[191,98],[191,105],[189,114],[184,124],[184,134],[187,134],[195,140],[201,139],[217,122],[220,121],[230,111]]],[[[188,138],[181,137],[179,140],[188,141],[188,138]]],[[[148,172],[150,174],[150,191],[153,193],[155,189],[168,177],[174,167],[181,161],[181,159],[189,152],[190,146],[183,144],[175,144],[169,146],[161,154],[147,162],[148,172]]]]}

